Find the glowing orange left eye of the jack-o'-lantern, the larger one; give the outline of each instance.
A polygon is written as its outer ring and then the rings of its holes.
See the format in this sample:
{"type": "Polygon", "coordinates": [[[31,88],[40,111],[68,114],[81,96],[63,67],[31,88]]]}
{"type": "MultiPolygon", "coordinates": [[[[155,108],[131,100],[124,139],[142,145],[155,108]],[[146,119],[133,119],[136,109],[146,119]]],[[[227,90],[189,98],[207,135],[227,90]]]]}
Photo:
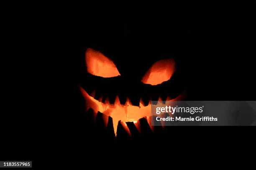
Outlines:
{"type": "Polygon", "coordinates": [[[100,77],[116,77],[120,75],[113,61],[101,52],[88,48],[85,52],[87,72],[100,77]]]}

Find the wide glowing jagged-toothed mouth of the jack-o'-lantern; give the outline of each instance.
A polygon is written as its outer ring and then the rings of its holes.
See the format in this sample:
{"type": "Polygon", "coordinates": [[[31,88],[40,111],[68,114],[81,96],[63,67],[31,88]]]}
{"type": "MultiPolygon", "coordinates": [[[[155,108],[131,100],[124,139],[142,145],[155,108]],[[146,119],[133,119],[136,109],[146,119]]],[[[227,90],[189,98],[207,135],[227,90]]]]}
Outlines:
{"type": "MultiPolygon", "coordinates": [[[[127,126],[125,122],[133,122],[138,131],[140,132],[140,125],[138,120],[140,118],[146,117],[148,124],[151,125],[150,116],[151,116],[151,100],[149,100],[148,105],[145,105],[143,100],[141,99],[139,102],[139,106],[133,105],[131,100],[127,97],[125,104],[120,104],[120,100],[118,95],[115,98],[114,103],[110,103],[108,97],[104,102],[102,99],[95,99],[94,95],[89,95],[81,86],[80,91],[85,99],[85,107],[86,111],[89,108],[92,108],[95,112],[95,117],[97,112],[103,113],[103,121],[105,127],[108,124],[108,116],[113,119],[113,127],[115,134],[117,133],[118,122],[120,121],[123,126],[127,126]]],[[[171,99],[171,97],[167,97],[165,101],[177,101],[182,100],[184,97],[183,94],[180,94],[178,97],[171,99]]],[[[158,102],[162,102],[161,97],[159,97],[158,102]]],[[[124,127],[125,128],[125,127],[124,127]]],[[[153,127],[151,127],[154,130],[153,127]]],[[[126,128],[129,133],[128,128],[126,128]]]]}

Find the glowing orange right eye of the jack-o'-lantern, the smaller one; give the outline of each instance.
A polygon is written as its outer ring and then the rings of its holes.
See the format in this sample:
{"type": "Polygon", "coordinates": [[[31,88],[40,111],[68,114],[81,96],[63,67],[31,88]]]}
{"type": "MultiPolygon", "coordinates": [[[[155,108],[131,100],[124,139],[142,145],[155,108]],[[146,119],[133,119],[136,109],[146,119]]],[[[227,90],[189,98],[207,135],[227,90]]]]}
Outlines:
{"type": "Polygon", "coordinates": [[[142,77],[141,82],[150,85],[159,85],[170,80],[175,71],[174,59],[166,59],[155,62],[142,77]]]}

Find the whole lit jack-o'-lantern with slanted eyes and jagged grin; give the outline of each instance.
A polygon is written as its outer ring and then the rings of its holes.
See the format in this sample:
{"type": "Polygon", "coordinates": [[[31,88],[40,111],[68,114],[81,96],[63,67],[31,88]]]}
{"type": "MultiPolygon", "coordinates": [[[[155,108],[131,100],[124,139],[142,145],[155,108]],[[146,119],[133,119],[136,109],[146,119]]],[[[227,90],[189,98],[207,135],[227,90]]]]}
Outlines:
{"type": "Polygon", "coordinates": [[[150,125],[151,101],[184,98],[179,61],[170,50],[144,40],[143,45],[131,44],[128,39],[87,45],[81,60],[85,110],[93,110],[94,120],[100,114],[104,127],[110,123],[117,136],[120,128],[130,136],[131,127],[140,133],[141,118],[150,125]]]}

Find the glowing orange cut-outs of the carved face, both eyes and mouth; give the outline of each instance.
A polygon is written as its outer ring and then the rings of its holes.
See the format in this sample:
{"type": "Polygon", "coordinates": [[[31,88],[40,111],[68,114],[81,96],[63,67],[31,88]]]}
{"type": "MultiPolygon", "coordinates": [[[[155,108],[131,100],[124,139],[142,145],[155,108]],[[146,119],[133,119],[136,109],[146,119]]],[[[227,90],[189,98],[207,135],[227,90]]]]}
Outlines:
{"type": "MultiPolygon", "coordinates": [[[[103,55],[100,51],[94,50],[92,48],[88,48],[85,52],[85,65],[87,67],[87,73],[90,74],[90,76],[100,77],[101,79],[122,77],[122,74],[120,74],[115,63],[110,60],[110,58],[103,55]]],[[[175,65],[176,63],[174,59],[163,59],[154,62],[154,64],[151,65],[146,73],[141,77],[140,83],[146,85],[147,87],[153,87],[159,86],[164,82],[169,81],[175,72],[175,65]]],[[[128,88],[129,85],[126,85],[125,87],[128,88]]],[[[127,96],[126,100],[121,103],[117,94],[115,96],[114,102],[111,103],[108,99],[108,96],[103,101],[102,96],[95,98],[95,91],[88,94],[88,92],[82,86],[80,86],[80,90],[85,99],[86,108],[92,108],[95,113],[98,111],[102,112],[104,115],[103,119],[105,120],[105,125],[107,125],[108,116],[113,118],[115,133],[119,120],[121,120],[121,122],[134,122],[139,131],[140,125],[137,121],[140,118],[147,117],[148,122],[150,122],[150,100],[148,104],[144,104],[141,98],[139,100],[139,104],[133,105],[130,98],[127,96]]],[[[167,96],[164,100],[181,100],[182,97],[183,95],[178,95],[175,98],[167,96]]],[[[161,97],[159,97],[158,100],[162,101],[161,97]]],[[[125,125],[125,123],[123,124],[125,125]]]]}

